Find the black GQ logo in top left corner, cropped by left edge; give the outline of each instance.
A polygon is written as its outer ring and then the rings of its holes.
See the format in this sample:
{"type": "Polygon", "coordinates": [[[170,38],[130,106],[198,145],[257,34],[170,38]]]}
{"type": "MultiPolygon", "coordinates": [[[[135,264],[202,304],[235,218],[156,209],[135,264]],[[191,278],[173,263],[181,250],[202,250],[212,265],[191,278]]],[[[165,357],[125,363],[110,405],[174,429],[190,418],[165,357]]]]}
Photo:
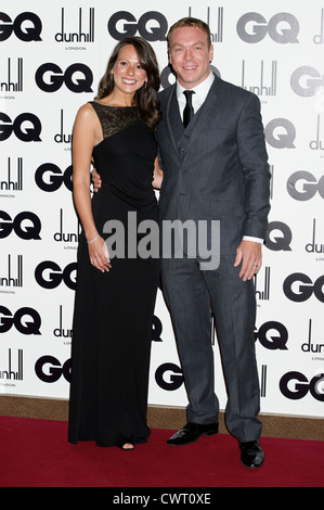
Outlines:
{"type": "Polygon", "coordinates": [[[0,41],[9,39],[12,33],[24,42],[41,41],[41,28],[40,18],[33,12],[22,12],[14,22],[5,12],[0,12],[0,41]],[[23,24],[27,25],[26,28],[23,28],[23,24]]]}

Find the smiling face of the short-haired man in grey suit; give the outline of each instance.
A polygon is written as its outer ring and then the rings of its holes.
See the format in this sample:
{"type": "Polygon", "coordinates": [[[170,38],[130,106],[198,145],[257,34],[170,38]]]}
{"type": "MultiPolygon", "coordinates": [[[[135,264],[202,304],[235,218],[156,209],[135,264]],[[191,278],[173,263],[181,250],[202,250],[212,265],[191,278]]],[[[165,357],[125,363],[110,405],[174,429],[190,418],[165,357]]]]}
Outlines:
{"type": "Polygon", "coordinates": [[[213,48],[207,34],[197,27],[176,28],[171,34],[169,61],[180,85],[192,89],[209,75],[213,48]]]}

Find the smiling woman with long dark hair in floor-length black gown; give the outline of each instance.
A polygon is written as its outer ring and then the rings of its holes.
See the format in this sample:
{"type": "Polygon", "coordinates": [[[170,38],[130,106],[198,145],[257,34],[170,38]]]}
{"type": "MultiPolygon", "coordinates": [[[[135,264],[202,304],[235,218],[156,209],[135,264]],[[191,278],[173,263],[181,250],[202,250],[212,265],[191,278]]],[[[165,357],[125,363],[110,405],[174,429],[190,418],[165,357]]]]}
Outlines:
{"type": "Polygon", "coordinates": [[[159,260],[134,255],[131,242],[140,241],[140,234],[134,238],[134,218],[135,227],[158,220],[153,186],[159,188],[161,180],[154,133],[160,116],[159,85],[151,46],[139,37],[125,38],[109,59],[95,101],[79,110],[74,126],[74,200],[82,232],[73,323],[70,443],[95,441],[129,450],[150,435],[148,366],[159,260]],[[92,157],[102,186],[91,200],[92,157]],[[113,243],[109,248],[105,242],[105,225],[112,220],[124,228],[126,248],[120,251],[120,242],[118,250],[115,235],[114,256],[113,243]]]}

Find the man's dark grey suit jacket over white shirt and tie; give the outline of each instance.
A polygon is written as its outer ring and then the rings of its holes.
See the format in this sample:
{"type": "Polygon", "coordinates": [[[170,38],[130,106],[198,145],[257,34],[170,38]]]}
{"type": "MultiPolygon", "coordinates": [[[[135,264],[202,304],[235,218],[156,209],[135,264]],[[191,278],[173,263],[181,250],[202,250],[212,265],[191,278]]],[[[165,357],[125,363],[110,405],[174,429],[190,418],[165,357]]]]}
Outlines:
{"type": "Polygon", "coordinates": [[[221,254],[235,253],[244,235],[263,239],[270,173],[258,97],[215,76],[186,130],[176,84],[159,101],[160,219],[220,220],[221,254]]]}

